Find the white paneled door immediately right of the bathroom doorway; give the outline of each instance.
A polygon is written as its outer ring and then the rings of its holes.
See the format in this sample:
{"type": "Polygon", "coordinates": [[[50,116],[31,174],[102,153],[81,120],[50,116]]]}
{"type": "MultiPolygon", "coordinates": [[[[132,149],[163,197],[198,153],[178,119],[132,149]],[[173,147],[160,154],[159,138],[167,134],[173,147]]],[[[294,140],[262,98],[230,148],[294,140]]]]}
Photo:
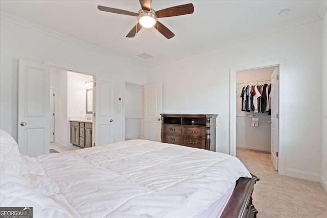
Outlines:
{"type": "Polygon", "coordinates": [[[113,142],[113,83],[110,78],[96,77],[96,107],[95,107],[95,143],[96,146],[113,142]]]}

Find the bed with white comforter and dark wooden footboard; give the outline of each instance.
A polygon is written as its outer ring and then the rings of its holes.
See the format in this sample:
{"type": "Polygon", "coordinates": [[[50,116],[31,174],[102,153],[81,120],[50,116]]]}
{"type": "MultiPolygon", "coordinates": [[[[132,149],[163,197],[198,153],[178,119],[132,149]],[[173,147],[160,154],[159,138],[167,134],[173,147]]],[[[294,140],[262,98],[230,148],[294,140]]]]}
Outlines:
{"type": "Polygon", "coordinates": [[[236,157],[148,140],[20,155],[0,132],[0,206],[33,217],[255,217],[258,178],[236,157]]]}

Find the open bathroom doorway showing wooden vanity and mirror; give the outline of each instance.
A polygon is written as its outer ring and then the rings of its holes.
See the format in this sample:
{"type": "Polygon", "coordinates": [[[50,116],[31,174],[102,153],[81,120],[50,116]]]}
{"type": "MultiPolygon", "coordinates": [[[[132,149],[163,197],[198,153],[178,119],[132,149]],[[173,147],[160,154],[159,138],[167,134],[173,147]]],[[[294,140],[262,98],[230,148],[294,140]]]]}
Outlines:
{"type": "Polygon", "coordinates": [[[60,68],[50,70],[50,151],[92,147],[94,77],[60,68]],[[53,100],[53,101],[52,101],[53,100]],[[53,120],[53,122],[51,122],[53,120]]]}

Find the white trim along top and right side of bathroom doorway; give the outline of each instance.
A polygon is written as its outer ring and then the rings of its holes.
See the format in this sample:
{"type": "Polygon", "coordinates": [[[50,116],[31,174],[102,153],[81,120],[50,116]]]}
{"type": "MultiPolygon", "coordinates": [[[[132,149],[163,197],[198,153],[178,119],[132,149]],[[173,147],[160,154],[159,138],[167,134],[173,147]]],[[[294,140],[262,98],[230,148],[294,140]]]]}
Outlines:
{"type": "MultiPolygon", "coordinates": [[[[43,61],[43,64],[48,64],[49,67],[50,67],[50,70],[51,70],[51,68],[57,68],[57,69],[67,70],[67,71],[72,71],[72,72],[77,72],[79,74],[84,74],[84,75],[88,75],[88,76],[92,76],[93,77],[92,78],[92,83],[93,83],[92,84],[92,92],[93,92],[92,120],[95,120],[94,113],[95,113],[95,108],[98,106],[98,104],[96,102],[96,89],[95,89],[94,84],[95,84],[95,81],[96,81],[97,74],[89,74],[88,72],[86,72],[86,71],[84,71],[82,69],[77,69],[77,68],[74,68],[74,67],[71,67],[71,66],[60,65],[60,64],[52,63],[52,62],[49,62],[49,61],[46,61],[46,60],[43,61]]],[[[50,122],[50,118],[49,118],[49,122],[50,122]]],[[[97,130],[96,130],[95,122],[92,122],[92,147],[94,147],[94,143],[96,141],[96,134],[93,134],[96,131],[97,130]]]]}

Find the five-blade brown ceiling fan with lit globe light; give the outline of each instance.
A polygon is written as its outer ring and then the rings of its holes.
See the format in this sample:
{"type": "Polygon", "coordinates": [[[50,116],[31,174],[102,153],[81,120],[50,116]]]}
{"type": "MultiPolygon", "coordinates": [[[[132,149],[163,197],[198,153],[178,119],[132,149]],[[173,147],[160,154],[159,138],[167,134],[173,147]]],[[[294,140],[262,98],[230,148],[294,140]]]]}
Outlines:
{"type": "Polygon", "coordinates": [[[151,7],[152,0],[139,0],[142,9],[140,9],[137,13],[125,11],[116,8],[108,8],[105,6],[98,6],[100,11],[106,11],[116,14],[124,14],[129,16],[137,17],[137,24],[133,27],[133,29],[127,34],[126,37],[134,37],[139,30],[144,28],[154,27],[158,30],[162,35],[164,35],[167,39],[170,39],[175,36],[175,34],[170,31],[165,25],[157,20],[157,18],[161,17],[173,17],[184,14],[192,14],[194,12],[193,4],[179,5],[171,8],[162,9],[160,11],[154,11],[151,7]]]}

